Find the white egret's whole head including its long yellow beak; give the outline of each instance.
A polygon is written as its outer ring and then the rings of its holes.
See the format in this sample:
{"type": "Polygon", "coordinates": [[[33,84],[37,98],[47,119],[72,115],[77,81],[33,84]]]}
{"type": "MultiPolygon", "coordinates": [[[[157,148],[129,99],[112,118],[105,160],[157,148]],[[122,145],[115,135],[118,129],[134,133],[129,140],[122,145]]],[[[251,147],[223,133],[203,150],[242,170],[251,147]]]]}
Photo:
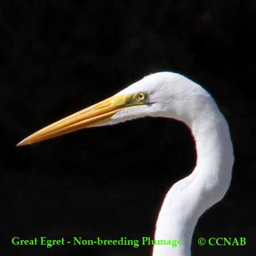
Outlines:
{"type": "Polygon", "coordinates": [[[188,118],[195,110],[195,97],[208,93],[184,76],[159,72],[144,77],[113,97],[69,115],[30,135],[17,146],[32,144],[85,127],[113,125],[145,116],[188,118]]]}

